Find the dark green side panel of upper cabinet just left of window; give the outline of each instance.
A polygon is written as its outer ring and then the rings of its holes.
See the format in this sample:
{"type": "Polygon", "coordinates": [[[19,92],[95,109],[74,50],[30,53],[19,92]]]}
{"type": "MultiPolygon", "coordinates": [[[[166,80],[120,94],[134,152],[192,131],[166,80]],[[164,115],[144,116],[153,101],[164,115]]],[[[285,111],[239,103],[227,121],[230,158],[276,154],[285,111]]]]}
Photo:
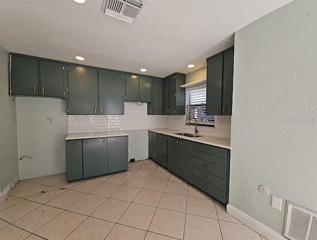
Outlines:
{"type": "Polygon", "coordinates": [[[180,86],[185,84],[186,75],[176,74],[176,84],[175,84],[175,115],[185,115],[185,89],[180,86]]]}

